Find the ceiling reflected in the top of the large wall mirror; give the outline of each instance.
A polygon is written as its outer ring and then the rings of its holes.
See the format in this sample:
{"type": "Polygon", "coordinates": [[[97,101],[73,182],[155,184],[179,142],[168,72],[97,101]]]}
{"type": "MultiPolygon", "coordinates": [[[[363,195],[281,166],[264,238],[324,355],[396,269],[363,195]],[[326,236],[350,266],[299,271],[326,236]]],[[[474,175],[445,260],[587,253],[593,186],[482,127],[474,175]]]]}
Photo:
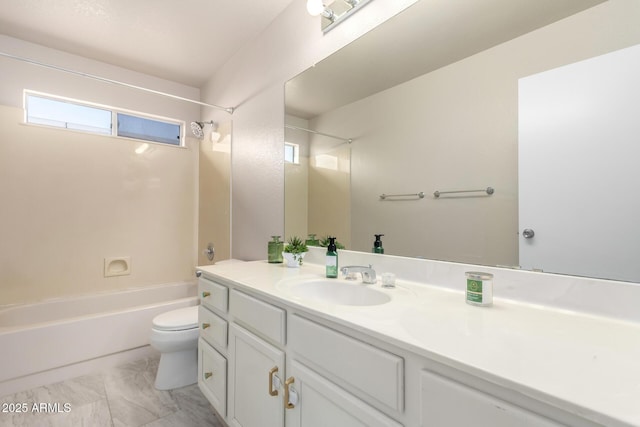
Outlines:
{"type": "Polygon", "coordinates": [[[418,1],[287,82],[286,111],[313,118],[603,1],[418,1]]]}

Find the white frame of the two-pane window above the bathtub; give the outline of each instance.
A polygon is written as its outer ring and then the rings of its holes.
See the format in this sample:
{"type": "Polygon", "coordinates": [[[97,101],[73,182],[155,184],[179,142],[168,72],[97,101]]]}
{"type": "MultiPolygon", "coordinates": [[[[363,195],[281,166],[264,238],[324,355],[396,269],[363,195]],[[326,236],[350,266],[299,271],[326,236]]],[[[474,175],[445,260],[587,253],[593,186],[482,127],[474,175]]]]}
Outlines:
{"type": "Polygon", "coordinates": [[[144,142],[144,143],[150,143],[150,144],[160,144],[160,145],[168,146],[168,147],[186,148],[186,138],[185,138],[185,127],[186,126],[185,126],[185,122],[182,121],[182,120],[171,119],[171,118],[168,118],[168,117],[158,116],[158,115],[154,115],[154,114],[147,114],[147,113],[142,113],[142,112],[139,112],[139,111],[127,110],[127,109],[124,109],[124,108],[113,107],[113,106],[110,106],[110,105],[98,104],[98,103],[89,102],[89,101],[82,101],[82,100],[78,100],[78,99],[74,99],[74,98],[68,98],[68,97],[63,97],[63,96],[58,96],[58,95],[52,95],[52,94],[43,93],[43,92],[37,92],[37,91],[33,91],[33,90],[28,90],[28,89],[24,90],[24,101],[23,102],[24,102],[24,123],[26,125],[29,125],[29,126],[42,126],[42,127],[52,128],[52,129],[61,129],[61,130],[72,131],[72,132],[88,133],[88,134],[91,134],[91,135],[102,135],[102,136],[107,136],[107,137],[112,137],[112,138],[127,139],[127,140],[130,140],[130,141],[144,142]],[[75,129],[73,127],[55,126],[55,125],[49,125],[49,124],[46,124],[46,123],[38,123],[38,122],[29,121],[29,110],[28,110],[28,104],[29,103],[28,103],[28,99],[29,99],[30,96],[36,97],[36,98],[47,99],[47,100],[51,100],[51,101],[55,101],[55,102],[78,105],[78,106],[81,106],[81,107],[94,108],[96,110],[109,111],[111,113],[111,129],[110,129],[110,132],[106,133],[106,132],[91,131],[91,130],[87,130],[87,129],[75,129]],[[150,121],[154,121],[154,122],[158,122],[158,123],[164,123],[164,124],[168,124],[168,125],[178,126],[178,129],[179,129],[179,131],[178,131],[179,132],[179,134],[178,134],[179,141],[178,141],[177,144],[173,144],[171,142],[158,141],[156,139],[143,139],[143,138],[135,138],[135,137],[131,137],[131,136],[120,135],[119,134],[119,126],[118,126],[118,115],[119,114],[130,116],[130,117],[134,117],[134,118],[140,118],[140,119],[143,119],[143,120],[150,120],[150,121]]]}

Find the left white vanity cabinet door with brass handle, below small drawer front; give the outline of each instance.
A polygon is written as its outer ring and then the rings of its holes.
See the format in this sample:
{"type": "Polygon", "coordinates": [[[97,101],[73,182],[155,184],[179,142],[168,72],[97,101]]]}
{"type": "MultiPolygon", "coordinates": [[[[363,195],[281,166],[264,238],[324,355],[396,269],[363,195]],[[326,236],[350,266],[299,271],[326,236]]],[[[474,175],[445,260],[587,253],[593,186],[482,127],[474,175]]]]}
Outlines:
{"type": "Polygon", "coordinates": [[[229,357],[230,424],[282,427],[284,406],[277,384],[284,376],[284,352],[232,323],[229,357]]]}

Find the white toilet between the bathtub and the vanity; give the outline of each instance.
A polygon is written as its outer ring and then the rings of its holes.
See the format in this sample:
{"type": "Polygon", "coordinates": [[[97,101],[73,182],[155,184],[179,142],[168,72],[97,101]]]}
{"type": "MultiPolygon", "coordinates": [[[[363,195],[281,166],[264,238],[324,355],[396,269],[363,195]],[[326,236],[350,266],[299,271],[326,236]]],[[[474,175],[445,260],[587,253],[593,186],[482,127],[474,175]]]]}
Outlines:
{"type": "Polygon", "coordinates": [[[153,318],[151,346],[160,352],[155,387],[170,390],[198,380],[198,306],[179,308],[153,318]]]}

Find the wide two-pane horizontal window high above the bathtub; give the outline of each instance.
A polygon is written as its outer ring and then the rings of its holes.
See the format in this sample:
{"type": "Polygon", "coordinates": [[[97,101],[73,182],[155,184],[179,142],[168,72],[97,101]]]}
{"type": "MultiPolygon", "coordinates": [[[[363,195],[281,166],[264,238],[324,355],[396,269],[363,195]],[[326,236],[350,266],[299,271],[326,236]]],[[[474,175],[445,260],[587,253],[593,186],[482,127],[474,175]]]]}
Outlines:
{"type": "Polygon", "coordinates": [[[25,109],[27,123],[182,146],[183,126],[178,121],[33,93],[26,93],[25,109]]]}

